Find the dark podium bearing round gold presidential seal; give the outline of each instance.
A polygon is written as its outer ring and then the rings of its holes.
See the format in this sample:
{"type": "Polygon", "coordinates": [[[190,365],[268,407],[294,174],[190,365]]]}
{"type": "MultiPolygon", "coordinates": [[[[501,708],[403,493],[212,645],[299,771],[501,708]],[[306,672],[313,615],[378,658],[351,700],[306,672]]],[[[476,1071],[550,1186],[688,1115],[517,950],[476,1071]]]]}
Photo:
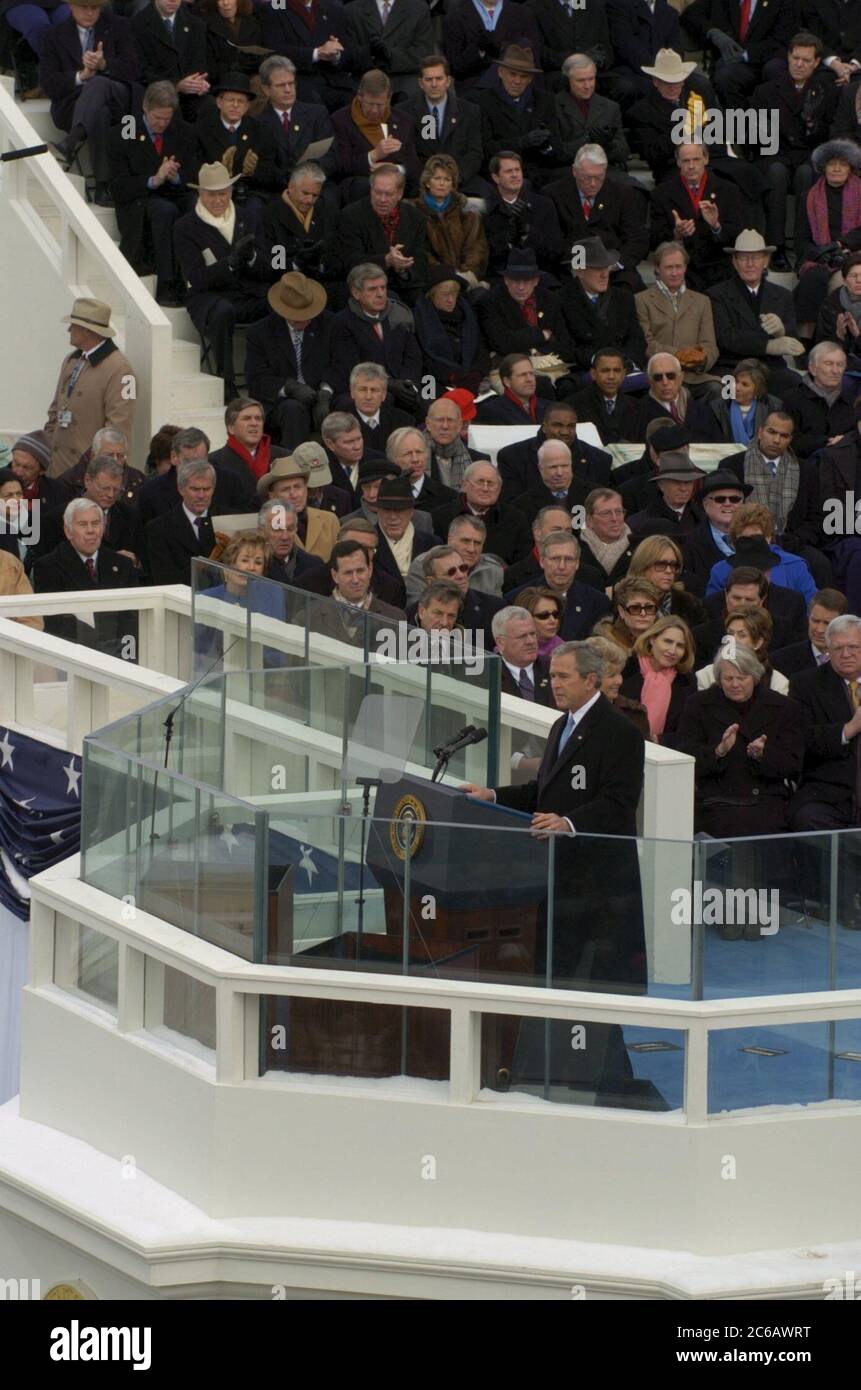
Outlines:
{"type": "MultiPolygon", "coordinates": [[[[383,784],[369,823],[366,887],[370,878],[371,888],[384,890],[385,933],[366,931],[360,938],[345,933],[296,956],[296,963],[399,974],[406,959],[413,976],[536,983],[547,849],[526,835],[491,833],[526,830],[530,819],[420,777],[383,784]]],[[[289,1022],[288,1022],[288,1055],[273,1055],[270,1066],[335,1076],[392,1076],[403,1069],[428,1080],[448,1077],[448,1012],[321,999],[293,999],[287,1012],[289,1022]]],[[[485,1016],[483,1084],[506,1084],[519,1027],[516,1017],[485,1016]]]]}

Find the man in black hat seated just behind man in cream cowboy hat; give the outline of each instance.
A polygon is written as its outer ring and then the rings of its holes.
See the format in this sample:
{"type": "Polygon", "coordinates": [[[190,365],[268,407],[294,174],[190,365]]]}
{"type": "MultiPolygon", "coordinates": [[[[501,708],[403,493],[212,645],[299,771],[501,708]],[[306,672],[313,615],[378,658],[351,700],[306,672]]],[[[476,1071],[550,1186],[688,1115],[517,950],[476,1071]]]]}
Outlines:
{"type": "Polygon", "coordinates": [[[195,121],[202,164],[224,164],[241,179],[236,202],[252,195],[260,202],[284,188],[275,138],[256,117],[248,114],[252,85],[243,72],[225,72],[216,88],[217,110],[203,111],[195,121]]]}

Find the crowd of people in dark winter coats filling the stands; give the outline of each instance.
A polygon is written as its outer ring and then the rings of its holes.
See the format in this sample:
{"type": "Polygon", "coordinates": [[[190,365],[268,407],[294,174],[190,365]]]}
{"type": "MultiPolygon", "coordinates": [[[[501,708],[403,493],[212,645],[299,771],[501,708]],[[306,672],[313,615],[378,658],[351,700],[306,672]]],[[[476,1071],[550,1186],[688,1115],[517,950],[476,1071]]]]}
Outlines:
{"type": "Polygon", "coordinates": [[[861,6],[70,8],[6,18],[228,438],[132,457],[134,364],[78,302],[0,473],[1,592],[210,557],[225,600],[263,574],[330,638],[470,632],[548,708],[588,641],[606,701],[694,756],[698,831],[860,824],[861,6]],[[522,436],[488,457],[472,424],[522,436]]]}

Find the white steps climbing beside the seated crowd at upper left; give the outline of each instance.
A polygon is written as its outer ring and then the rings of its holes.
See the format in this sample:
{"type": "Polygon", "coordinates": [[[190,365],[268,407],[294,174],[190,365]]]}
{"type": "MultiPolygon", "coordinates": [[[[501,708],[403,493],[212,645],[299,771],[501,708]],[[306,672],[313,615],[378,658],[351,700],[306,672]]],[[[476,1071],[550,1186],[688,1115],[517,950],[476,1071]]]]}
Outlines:
{"type": "MultiPolygon", "coordinates": [[[[43,140],[61,139],[50,118],[49,101],[26,101],[22,104],[24,114],[43,140]]],[[[85,179],[79,174],[68,174],[67,178],[85,196],[85,179]]],[[[49,200],[40,193],[36,179],[28,181],[28,192],[35,210],[50,232],[57,235],[58,218],[49,200]]],[[[120,240],[117,217],[111,207],[90,206],[93,215],[102,222],[111,240],[120,240]]],[[[129,271],[131,274],[131,271],[129,271]]],[[[96,261],[79,267],[82,285],[92,292],[96,299],[110,302],[110,291],[100,277],[96,261]]],[[[142,285],[154,293],[156,277],[145,275],[142,285]]],[[[224,386],[220,377],[207,375],[200,370],[200,339],[198,329],[192,324],[185,309],[164,309],[164,314],[172,327],[171,343],[171,414],[170,420],[156,421],[174,425],[198,425],[209,435],[213,449],[221,448],[227,435],[224,428],[224,386]]],[[[120,336],[122,336],[122,316],[114,314],[120,336]]]]}

